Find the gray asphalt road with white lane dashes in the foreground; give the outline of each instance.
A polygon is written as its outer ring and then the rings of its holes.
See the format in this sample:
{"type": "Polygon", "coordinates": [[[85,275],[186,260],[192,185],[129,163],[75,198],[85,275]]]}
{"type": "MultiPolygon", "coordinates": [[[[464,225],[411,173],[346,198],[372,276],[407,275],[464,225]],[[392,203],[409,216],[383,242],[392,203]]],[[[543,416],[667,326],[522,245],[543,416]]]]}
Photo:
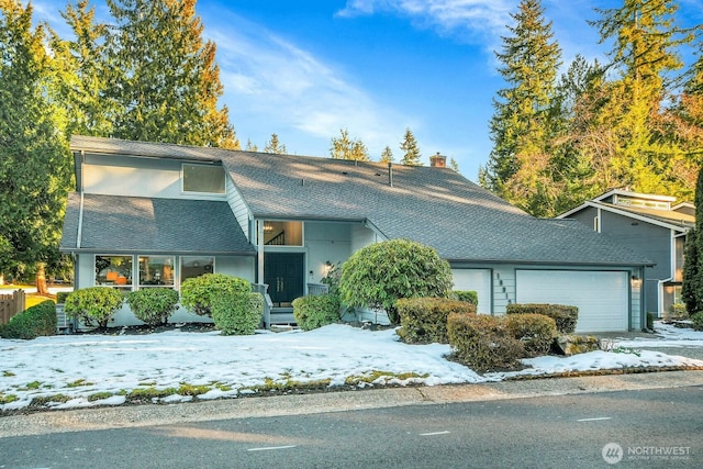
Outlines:
{"type": "MultiPolygon", "coordinates": [[[[650,377],[667,379],[662,375],[650,377]]],[[[599,377],[601,384],[632,380],[625,378],[599,377]]],[[[531,398],[510,395],[507,388],[501,392],[502,399],[486,394],[457,399],[467,402],[211,415],[166,425],[121,421],[107,423],[105,429],[79,429],[74,416],[60,429],[5,432],[0,468],[599,468],[611,466],[606,458],[620,458],[614,467],[703,467],[703,386],[531,398]]],[[[338,394],[352,401],[383,395],[338,394]]],[[[312,403],[314,397],[295,402],[312,403]]]]}

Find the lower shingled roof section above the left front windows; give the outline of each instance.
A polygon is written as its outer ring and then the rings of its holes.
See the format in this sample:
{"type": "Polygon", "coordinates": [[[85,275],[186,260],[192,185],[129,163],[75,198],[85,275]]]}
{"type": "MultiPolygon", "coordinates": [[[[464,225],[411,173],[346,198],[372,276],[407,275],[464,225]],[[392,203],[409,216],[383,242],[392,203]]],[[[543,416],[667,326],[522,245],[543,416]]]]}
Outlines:
{"type": "Polygon", "coordinates": [[[71,192],[62,252],[255,254],[226,202],[85,194],[79,217],[71,192]]]}

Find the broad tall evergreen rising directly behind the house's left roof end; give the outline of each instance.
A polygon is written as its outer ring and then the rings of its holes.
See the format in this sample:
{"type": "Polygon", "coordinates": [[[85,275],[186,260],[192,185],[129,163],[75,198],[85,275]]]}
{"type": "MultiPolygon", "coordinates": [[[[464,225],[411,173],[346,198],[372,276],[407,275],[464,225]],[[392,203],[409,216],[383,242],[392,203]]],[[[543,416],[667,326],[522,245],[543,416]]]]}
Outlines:
{"type": "Polygon", "coordinates": [[[215,45],[203,44],[196,0],[107,0],[116,21],[107,42],[108,97],[119,103],[114,136],[238,148],[215,45]]]}

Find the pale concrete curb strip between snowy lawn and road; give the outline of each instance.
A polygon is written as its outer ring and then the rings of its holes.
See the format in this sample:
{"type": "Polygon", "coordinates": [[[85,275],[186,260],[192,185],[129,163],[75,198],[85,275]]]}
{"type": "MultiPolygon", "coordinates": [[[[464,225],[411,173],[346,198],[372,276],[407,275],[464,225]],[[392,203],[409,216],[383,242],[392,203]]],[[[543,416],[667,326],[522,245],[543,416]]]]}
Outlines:
{"type": "Polygon", "coordinates": [[[0,438],[225,418],[271,417],[402,405],[527,399],[703,386],[703,371],[606,375],[417,388],[239,398],[179,404],[51,411],[0,417],[0,438]]]}

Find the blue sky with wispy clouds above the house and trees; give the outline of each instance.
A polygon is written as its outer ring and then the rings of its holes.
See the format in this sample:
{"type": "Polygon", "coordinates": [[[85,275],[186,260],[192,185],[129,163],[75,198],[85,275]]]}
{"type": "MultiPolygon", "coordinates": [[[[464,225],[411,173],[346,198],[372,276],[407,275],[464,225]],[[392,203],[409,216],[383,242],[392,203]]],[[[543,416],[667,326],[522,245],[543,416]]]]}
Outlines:
{"type": "MultiPolygon", "coordinates": [[[[217,45],[222,103],[242,145],[263,149],[272,133],[289,153],[328,156],[346,129],[378,159],[397,160],[405,129],[422,159],[439,152],[477,180],[492,144],[492,99],[504,87],[494,51],[518,0],[199,0],[204,36],[217,45]]],[[[703,1],[680,0],[689,24],[703,1]]],[[[62,32],[63,2],[34,0],[36,19],[62,32]]],[[[91,4],[107,9],[103,0],[91,4]]],[[[543,0],[562,48],[604,60],[594,8],[617,0],[543,0]]]]}

